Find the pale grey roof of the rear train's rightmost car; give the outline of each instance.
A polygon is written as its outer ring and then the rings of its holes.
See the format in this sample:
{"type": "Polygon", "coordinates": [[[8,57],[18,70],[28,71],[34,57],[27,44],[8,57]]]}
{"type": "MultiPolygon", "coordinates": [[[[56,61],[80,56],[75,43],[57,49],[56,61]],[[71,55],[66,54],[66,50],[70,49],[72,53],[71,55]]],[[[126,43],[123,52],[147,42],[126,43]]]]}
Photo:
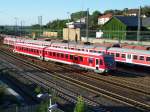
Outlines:
{"type": "Polygon", "coordinates": [[[109,48],[108,50],[116,51],[116,52],[122,52],[122,53],[133,53],[133,54],[141,54],[141,55],[150,55],[150,51],[146,51],[146,50],[116,48],[116,47],[109,48]]]}

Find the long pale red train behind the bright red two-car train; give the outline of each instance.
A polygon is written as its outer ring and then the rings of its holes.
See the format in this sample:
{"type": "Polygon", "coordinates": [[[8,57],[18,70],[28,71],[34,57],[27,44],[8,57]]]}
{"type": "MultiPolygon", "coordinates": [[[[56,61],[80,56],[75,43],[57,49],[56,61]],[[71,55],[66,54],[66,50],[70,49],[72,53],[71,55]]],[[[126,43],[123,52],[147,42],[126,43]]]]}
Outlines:
{"type": "Polygon", "coordinates": [[[24,40],[20,39],[12,39],[5,38],[4,44],[12,45],[15,42],[23,42],[30,43],[34,45],[43,45],[43,46],[51,46],[54,48],[62,48],[62,49],[70,49],[77,51],[85,51],[89,53],[104,53],[113,55],[115,61],[121,63],[130,63],[142,66],[150,66],[150,51],[147,50],[135,50],[135,49],[127,49],[127,48],[116,48],[116,47],[103,47],[103,46],[93,46],[93,45],[77,45],[70,43],[68,48],[68,43],[53,43],[46,41],[37,41],[37,40],[24,40]]]}

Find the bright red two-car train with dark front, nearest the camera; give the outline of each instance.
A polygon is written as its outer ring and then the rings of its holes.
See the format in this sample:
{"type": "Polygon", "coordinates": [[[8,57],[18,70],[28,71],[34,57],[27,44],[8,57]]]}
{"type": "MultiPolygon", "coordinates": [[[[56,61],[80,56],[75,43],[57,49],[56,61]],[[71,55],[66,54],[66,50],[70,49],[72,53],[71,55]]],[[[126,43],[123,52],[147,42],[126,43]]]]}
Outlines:
{"type": "Polygon", "coordinates": [[[98,73],[116,69],[113,56],[62,48],[17,43],[14,52],[60,63],[92,69],[98,73]]]}

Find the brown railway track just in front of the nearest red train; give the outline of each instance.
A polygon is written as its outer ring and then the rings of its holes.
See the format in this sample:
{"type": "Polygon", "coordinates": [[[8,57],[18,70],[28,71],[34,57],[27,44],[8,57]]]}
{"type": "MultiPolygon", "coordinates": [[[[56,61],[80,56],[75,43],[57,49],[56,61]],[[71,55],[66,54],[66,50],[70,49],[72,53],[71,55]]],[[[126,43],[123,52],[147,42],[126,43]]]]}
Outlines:
{"type": "MultiPolygon", "coordinates": [[[[64,69],[68,69],[68,66],[60,66],[60,65],[57,65],[59,68],[64,68],[64,69]]],[[[78,72],[76,70],[74,70],[74,68],[70,67],[69,69],[70,71],[72,72],[78,72]]],[[[106,82],[106,83],[111,83],[111,84],[114,84],[114,85],[117,85],[117,86],[120,86],[120,87],[124,87],[124,88],[128,88],[128,89],[131,89],[131,90],[134,90],[134,91],[137,91],[139,93],[142,93],[144,95],[150,95],[150,87],[149,86],[146,86],[146,85],[143,85],[143,84],[139,84],[139,83],[134,83],[134,82],[131,82],[131,81],[127,81],[127,80],[124,80],[124,79],[117,79],[116,77],[113,76],[113,74],[131,74],[131,72],[122,72],[122,71],[116,71],[115,73],[112,74],[111,77],[105,77],[105,76],[100,76],[99,74],[96,74],[96,73],[93,73],[93,72],[86,72],[85,71],[81,71],[79,70],[78,73],[80,73],[80,75],[83,75],[84,77],[87,77],[87,78],[93,78],[93,79],[96,79],[98,81],[103,81],[103,82],[106,82]],[[143,89],[145,88],[145,89],[143,89]],[[146,91],[147,90],[147,91],[146,91]]],[[[134,74],[132,74],[134,75],[134,74]]]]}

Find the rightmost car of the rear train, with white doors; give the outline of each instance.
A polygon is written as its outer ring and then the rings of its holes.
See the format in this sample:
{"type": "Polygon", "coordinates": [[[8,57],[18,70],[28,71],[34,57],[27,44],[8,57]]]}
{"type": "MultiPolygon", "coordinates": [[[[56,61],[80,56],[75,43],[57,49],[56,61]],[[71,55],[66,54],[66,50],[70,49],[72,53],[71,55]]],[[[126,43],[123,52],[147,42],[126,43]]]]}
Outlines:
{"type": "Polygon", "coordinates": [[[112,47],[107,53],[113,55],[117,62],[150,66],[150,51],[112,47]]]}

